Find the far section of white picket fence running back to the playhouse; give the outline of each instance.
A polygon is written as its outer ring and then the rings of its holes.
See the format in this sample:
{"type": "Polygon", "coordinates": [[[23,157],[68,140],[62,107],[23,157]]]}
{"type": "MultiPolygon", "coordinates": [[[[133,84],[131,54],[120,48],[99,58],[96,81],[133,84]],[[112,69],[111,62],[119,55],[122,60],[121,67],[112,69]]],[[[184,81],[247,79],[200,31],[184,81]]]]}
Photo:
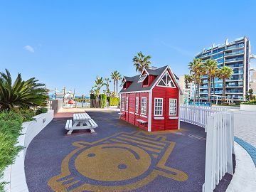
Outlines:
{"type": "Polygon", "coordinates": [[[225,107],[206,107],[196,105],[180,105],[179,118],[183,122],[196,124],[206,128],[207,119],[216,112],[227,112],[225,107]]]}

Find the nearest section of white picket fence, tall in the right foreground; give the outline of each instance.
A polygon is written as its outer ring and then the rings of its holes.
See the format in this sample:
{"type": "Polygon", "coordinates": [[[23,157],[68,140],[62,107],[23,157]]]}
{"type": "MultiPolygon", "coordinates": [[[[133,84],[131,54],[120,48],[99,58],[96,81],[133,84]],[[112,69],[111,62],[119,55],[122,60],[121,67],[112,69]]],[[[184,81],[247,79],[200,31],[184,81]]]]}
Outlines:
{"type": "Polygon", "coordinates": [[[218,112],[206,124],[206,170],[203,192],[213,192],[225,173],[233,175],[233,123],[230,113],[218,112]]]}

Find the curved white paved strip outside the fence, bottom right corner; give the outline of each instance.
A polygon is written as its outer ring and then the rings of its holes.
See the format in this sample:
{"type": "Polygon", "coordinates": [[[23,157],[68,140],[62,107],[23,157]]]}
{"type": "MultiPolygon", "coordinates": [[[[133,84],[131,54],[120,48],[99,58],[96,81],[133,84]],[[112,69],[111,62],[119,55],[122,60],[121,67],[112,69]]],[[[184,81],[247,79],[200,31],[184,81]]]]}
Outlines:
{"type": "Polygon", "coordinates": [[[245,149],[237,142],[235,146],[235,174],[226,190],[226,192],[256,191],[256,168],[255,164],[245,149]]]}

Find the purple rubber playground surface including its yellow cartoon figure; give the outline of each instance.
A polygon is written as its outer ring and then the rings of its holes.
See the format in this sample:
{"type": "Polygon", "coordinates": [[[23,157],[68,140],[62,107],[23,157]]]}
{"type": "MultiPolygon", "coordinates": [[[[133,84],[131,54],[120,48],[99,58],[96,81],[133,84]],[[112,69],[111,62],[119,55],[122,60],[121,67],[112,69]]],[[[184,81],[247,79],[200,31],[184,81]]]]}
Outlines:
{"type": "MultiPolygon", "coordinates": [[[[203,128],[181,122],[178,132],[147,134],[117,112],[88,114],[99,126],[95,134],[67,135],[72,114],[58,114],[33,139],[25,159],[29,191],[202,191],[203,128]]],[[[215,191],[225,191],[231,178],[226,174],[215,191]]]]}

